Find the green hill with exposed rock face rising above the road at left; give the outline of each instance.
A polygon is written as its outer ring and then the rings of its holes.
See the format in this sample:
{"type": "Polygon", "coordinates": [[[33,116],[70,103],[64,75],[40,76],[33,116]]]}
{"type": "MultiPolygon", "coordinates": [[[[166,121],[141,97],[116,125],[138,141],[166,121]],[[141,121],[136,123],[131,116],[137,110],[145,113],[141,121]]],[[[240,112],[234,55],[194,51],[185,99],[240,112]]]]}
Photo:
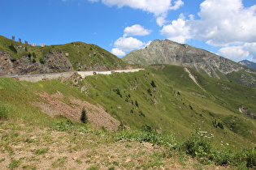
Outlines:
{"type": "Polygon", "coordinates": [[[70,70],[119,70],[128,66],[98,45],[72,42],[45,47],[24,45],[0,36],[0,75],[70,70]]]}

